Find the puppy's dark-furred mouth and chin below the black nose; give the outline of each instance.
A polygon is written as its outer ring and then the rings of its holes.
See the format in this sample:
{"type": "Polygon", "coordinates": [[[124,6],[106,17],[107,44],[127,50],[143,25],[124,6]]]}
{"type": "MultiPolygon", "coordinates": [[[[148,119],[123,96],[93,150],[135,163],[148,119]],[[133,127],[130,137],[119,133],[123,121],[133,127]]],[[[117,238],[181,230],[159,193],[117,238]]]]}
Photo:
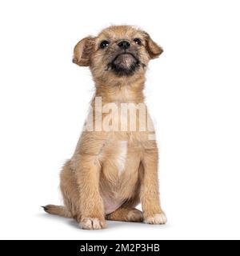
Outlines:
{"type": "Polygon", "coordinates": [[[118,54],[109,64],[107,70],[114,71],[118,76],[132,75],[140,66],[140,61],[132,53],[118,54]]]}

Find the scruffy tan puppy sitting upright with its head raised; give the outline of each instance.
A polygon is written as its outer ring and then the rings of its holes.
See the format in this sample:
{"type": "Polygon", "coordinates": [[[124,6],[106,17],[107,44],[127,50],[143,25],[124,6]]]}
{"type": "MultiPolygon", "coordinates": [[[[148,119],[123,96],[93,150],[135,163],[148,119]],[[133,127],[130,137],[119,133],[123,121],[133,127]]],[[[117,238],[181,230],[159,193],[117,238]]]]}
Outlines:
{"type": "Polygon", "coordinates": [[[159,202],[154,131],[140,127],[139,108],[135,130],[129,111],[120,114],[126,104],[145,106],[146,66],[160,54],[162,48],[150,35],[132,26],[110,26],[75,46],[73,62],[90,66],[96,86],[87,118],[93,126],[82,132],[73,157],[63,166],[60,187],[65,206],[44,206],[46,212],[74,218],[87,230],[102,229],[106,219],[166,223],[159,202]],[[101,110],[96,107],[99,98],[101,110]],[[111,118],[105,106],[112,106],[111,118]],[[142,211],[134,208],[139,202],[142,211]]]}

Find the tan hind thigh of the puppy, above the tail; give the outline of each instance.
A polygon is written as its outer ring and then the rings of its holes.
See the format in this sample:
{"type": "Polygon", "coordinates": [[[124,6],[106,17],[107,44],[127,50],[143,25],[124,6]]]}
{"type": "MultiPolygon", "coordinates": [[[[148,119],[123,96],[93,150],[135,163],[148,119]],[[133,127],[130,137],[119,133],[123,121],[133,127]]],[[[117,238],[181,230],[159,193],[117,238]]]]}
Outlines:
{"type": "MultiPolygon", "coordinates": [[[[65,163],[60,174],[60,189],[66,210],[72,218],[77,220],[79,215],[78,202],[78,185],[74,177],[74,172],[70,167],[70,160],[65,163]]],[[[77,220],[78,221],[78,220],[77,220]]]]}

